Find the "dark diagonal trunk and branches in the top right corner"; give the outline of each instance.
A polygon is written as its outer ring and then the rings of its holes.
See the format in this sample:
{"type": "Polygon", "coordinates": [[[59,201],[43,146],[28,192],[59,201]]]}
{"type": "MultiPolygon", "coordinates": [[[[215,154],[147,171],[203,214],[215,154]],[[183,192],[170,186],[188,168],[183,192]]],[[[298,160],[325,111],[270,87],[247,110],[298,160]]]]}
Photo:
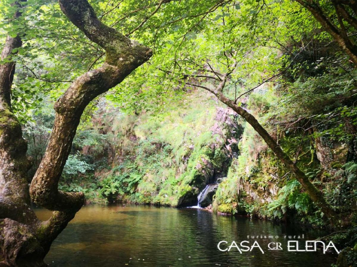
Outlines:
{"type": "MultiPolygon", "coordinates": [[[[325,30],[330,33],[330,35],[336,40],[337,44],[341,47],[343,51],[350,56],[351,61],[357,65],[357,46],[352,39],[348,38],[347,32],[344,29],[339,29],[328,17],[327,14],[323,12],[321,7],[317,5],[312,0],[295,0],[315,17],[315,19],[320,22],[320,24],[325,28],[325,30]]],[[[338,16],[343,17],[351,26],[357,26],[357,21],[353,15],[348,14],[346,9],[338,2],[336,3],[336,12],[338,16]]],[[[352,1],[351,1],[352,2],[352,1]]],[[[354,2],[354,1],[353,1],[354,2]]],[[[354,3],[355,4],[355,3],[354,3]]],[[[351,4],[352,5],[352,4],[351,4]]]]}

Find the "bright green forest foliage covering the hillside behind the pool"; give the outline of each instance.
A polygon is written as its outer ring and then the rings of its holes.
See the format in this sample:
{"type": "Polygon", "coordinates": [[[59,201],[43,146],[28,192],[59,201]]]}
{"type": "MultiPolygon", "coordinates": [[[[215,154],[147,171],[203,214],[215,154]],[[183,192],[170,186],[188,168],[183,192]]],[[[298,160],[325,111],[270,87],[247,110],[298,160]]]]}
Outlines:
{"type": "MultiPolygon", "coordinates": [[[[28,0],[15,21],[10,2],[0,3],[0,29],[23,33],[12,58],[11,99],[33,174],[54,101],[80,74],[101,66],[105,53],[57,2],[28,0]]],[[[317,1],[355,43],[356,28],[341,23],[333,2],[317,1]]],[[[181,206],[220,177],[215,211],[324,226],[321,210],[253,128],[202,89],[213,90],[228,73],[223,94],[258,119],[333,210],[356,223],[357,70],[299,1],[90,3],[102,22],[154,56],[87,106],[60,189],[84,192],[89,201],[181,206]],[[224,121],[217,120],[222,110],[224,121]]]]}

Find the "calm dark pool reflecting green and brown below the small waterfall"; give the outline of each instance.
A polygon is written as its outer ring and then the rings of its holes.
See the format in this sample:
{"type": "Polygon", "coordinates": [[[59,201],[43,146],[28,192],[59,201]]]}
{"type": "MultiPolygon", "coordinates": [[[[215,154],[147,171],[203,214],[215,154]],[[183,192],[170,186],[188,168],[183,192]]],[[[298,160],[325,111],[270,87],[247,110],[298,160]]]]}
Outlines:
{"type": "MultiPolygon", "coordinates": [[[[36,210],[40,219],[50,212],[36,210]]],[[[205,210],[135,205],[84,206],[52,244],[45,258],[53,267],[112,266],[330,266],[336,255],[323,252],[287,252],[284,235],[305,235],[313,240],[322,233],[292,225],[220,216],[205,210]],[[258,239],[258,248],[240,254],[217,249],[219,241],[239,243],[247,235],[273,235],[258,239]],[[271,241],[282,251],[268,251],[271,241]]],[[[305,240],[301,242],[305,243],[305,240]]],[[[250,240],[251,245],[254,240],[250,240]]],[[[225,246],[222,246],[225,248],[225,246]]]]}

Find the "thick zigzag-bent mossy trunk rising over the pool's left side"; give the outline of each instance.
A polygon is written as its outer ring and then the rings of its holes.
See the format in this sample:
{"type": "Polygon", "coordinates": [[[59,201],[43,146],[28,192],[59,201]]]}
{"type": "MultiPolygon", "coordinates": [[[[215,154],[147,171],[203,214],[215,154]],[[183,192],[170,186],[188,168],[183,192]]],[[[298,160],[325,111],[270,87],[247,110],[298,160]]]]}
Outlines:
{"type": "Polygon", "coordinates": [[[58,182],[81,114],[91,100],[146,62],[152,51],[101,23],[87,0],[59,0],[59,3],[69,20],[106,51],[104,64],[78,77],[55,103],[54,128],[30,186],[32,201],[50,210],[72,214],[84,204],[84,195],[62,192],[58,190],[58,182]]]}

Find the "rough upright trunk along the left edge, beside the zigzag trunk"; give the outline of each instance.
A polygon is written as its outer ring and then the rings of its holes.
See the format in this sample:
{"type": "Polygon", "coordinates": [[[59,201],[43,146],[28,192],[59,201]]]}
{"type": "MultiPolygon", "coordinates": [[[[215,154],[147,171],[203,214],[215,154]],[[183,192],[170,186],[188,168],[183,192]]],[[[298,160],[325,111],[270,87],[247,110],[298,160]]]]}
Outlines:
{"type": "MultiPolygon", "coordinates": [[[[18,2],[14,3],[19,7],[18,2]]],[[[15,13],[16,19],[21,15],[15,13]]],[[[21,125],[11,110],[11,84],[15,62],[12,57],[21,47],[19,35],[7,36],[0,64],[0,263],[10,266],[24,265],[31,255],[34,266],[43,265],[43,249],[33,237],[33,226],[40,224],[30,208],[27,170],[31,166],[26,158],[27,143],[22,138],[21,125]],[[42,258],[42,259],[41,259],[42,258]]]]}

